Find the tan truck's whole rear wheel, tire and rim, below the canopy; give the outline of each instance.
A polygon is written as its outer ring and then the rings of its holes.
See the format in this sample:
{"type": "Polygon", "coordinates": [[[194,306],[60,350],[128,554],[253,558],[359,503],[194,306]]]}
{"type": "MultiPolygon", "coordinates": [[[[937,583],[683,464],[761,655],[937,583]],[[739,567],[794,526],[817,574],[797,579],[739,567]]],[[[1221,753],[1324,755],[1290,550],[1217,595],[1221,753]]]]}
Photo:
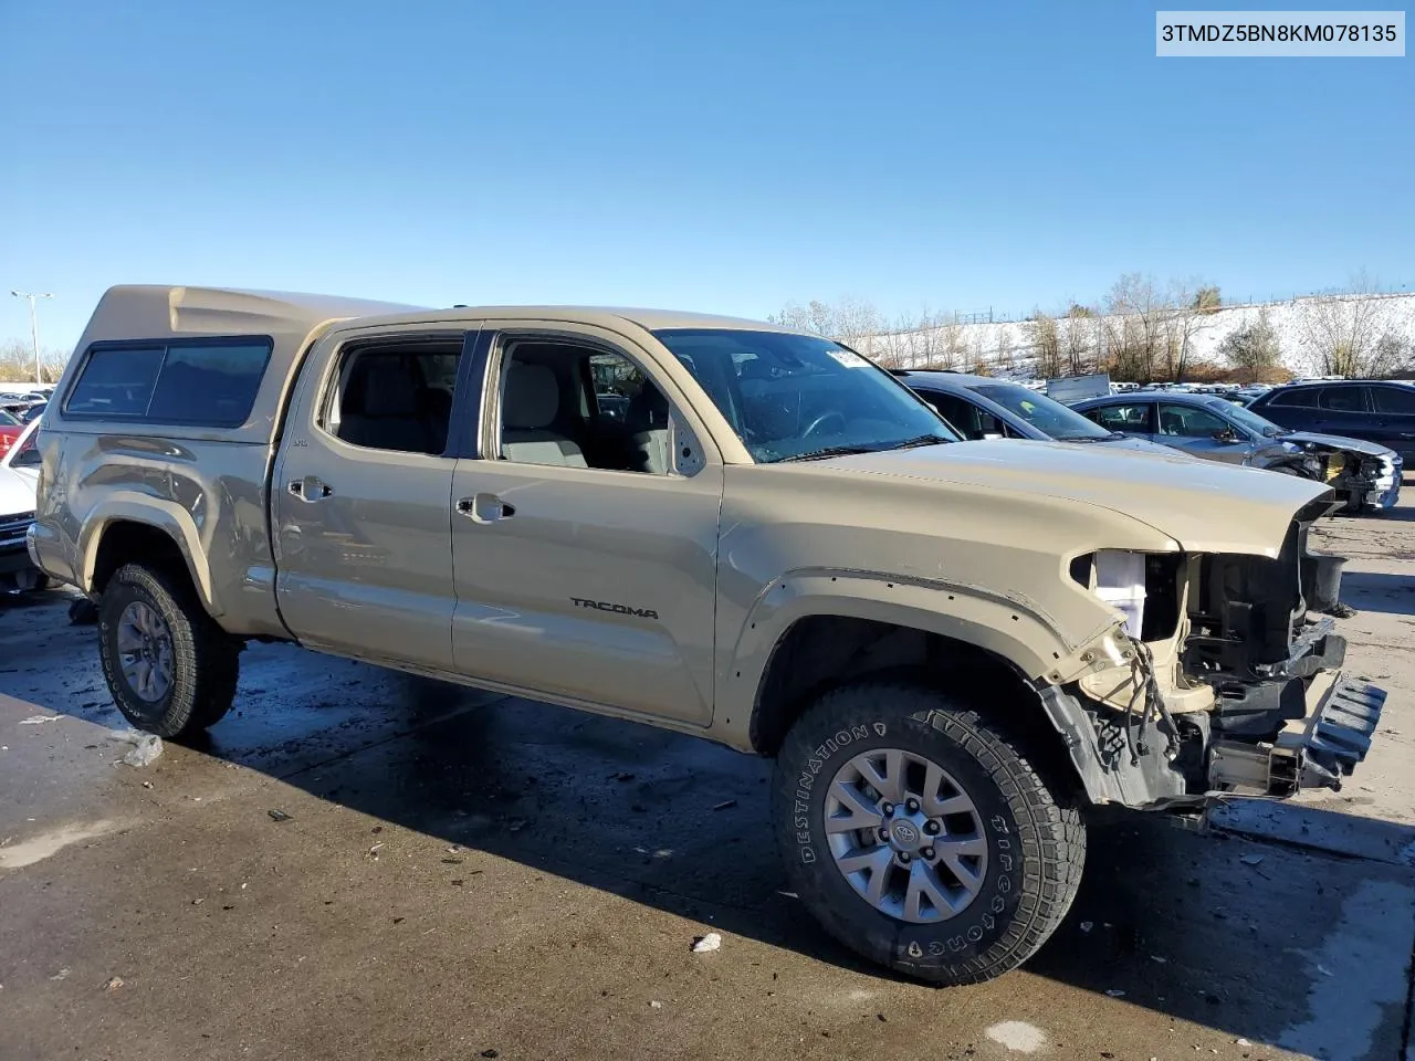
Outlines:
{"type": "Polygon", "coordinates": [[[99,656],[123,717],[158,737],[214,726],[236,695],[238,642],[166,570],[117,569],[99,604],[99,656]]]}

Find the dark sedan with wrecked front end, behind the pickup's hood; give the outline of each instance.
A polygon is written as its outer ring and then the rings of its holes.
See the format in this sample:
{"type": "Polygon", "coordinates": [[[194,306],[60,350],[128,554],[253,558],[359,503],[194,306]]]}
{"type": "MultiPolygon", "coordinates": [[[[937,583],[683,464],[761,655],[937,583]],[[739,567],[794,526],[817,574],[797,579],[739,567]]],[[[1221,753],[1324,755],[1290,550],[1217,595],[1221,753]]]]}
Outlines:
{"type": "Polygon", "coordinates": [[[1269,468],[1326,482],[1344,511],[1391,508],[1401,492],[1399,454],[1360,439],[1289,431],[1217,395],[1169,390],[1077,402],[1097,424],[1194,457],[1269,468]]]}

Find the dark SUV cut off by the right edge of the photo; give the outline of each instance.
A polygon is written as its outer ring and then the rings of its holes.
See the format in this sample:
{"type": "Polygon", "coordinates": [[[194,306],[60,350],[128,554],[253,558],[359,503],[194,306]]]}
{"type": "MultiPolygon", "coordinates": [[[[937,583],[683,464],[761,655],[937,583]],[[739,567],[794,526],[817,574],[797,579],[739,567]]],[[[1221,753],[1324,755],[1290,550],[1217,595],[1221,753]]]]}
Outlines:
{"type": "Polygon", "coordinates": [[[1298,431],[1330,431],[1395,450],[1415,463],[1415,383],[1322,381],[1258,395],[1252,412],[1298,431]]]}

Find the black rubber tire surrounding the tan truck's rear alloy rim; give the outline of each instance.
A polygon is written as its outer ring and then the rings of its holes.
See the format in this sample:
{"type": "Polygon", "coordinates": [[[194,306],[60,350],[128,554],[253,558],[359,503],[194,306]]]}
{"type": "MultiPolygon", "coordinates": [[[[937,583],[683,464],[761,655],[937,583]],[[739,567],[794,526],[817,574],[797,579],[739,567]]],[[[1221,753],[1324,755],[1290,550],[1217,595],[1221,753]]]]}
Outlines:
{"type": "Polygon", "coordinates": [[[99,601],[99,658],[113,702],[136,729],[158,737],[215,726],[236,696],[241,647],[207,614],[185,573],[130,563],[113,573],[99,601]],[[117,625],[123,610],[143,601],[171,631],[173,683],[157,702],[137,696],[123,678],[117,625]]]}

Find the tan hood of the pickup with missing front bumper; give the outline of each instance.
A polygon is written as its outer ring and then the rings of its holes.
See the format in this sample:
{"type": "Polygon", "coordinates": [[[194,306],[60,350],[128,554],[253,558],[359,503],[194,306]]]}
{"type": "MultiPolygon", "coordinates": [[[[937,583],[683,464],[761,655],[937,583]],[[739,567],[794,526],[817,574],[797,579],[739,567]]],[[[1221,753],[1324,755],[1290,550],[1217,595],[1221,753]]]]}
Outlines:
{"type": "Polygon", "coordinates": [[[1097,505],[1138,519],[1194,553],[1276,556],[1298,511],[1332,497],[1330,488],[1296,475],[1156,450],[1000,439],[865,453],[822,464],[1097,505]]]}

